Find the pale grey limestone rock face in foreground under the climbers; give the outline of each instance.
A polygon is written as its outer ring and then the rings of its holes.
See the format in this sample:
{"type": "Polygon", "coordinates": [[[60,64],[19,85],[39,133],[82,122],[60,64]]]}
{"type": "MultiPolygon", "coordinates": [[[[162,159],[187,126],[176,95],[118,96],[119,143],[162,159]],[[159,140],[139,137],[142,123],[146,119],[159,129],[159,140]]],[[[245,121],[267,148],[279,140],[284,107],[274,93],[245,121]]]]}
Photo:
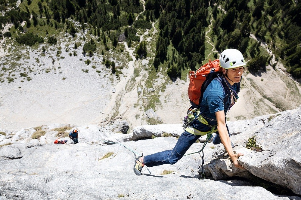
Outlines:
{"type": "MultiPolygon", "coordinates": [[[[236,152],[234,168],[221,144],[204,149],[206,179],[195,143],[175,165],[133,173],[135,155],[171,149],[181,124],[139,126],[43,126],[0,129],[1,199],[301,199],[301,107],[253,120],[229,122],[236,152]],[[61,129],[60,129],[61,128],[61,129]],[[58,130],[79,130],[79,144],[54,144],[58,130]],[[115,132],[114,132],[115,131],[115,132]],[[253,137],[254,136],[254,137],[253,137]],[[253,138],[253,141],[250,141],[253,138]],[[246,147],[252,144],[251,149],[246,147]]],[[[60,133],[62,134],[62,133],[60,133]]],[[[63,139],[69,140],[62,135],[63,139]]],[[[202,139],[201,139],[202,140],[202,139]]],[[[72,142],[71,142],[72,143],[72,142]]]]}

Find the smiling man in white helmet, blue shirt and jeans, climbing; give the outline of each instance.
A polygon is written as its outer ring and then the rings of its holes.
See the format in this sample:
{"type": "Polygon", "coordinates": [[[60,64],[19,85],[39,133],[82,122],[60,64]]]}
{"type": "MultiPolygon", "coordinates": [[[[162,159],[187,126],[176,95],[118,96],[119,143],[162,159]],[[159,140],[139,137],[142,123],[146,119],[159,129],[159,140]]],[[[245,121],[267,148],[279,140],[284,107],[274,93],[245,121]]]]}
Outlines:
{"type": "Polygon", "coordinates": [[[230,141],[230,133],[226,124],[226,113],[238,99],[239,83],[241,81],[245,60],[239,50],[226,49],[219,57],[220,81],[213,79],[203,93],[197,120],[194,120],[178,138],[172,150],[166,150],[147,156],[139,156],[135,160],[134,172],[141,175],[141,170],[146,165],[153,167],[163,164],[173,165],[180,160],[191,145],[202,135],[216,132],[213,144],[222,143],[233,164],[237,168],[242,165],[237,162],[243,153],[234,153],[230,141]]]}

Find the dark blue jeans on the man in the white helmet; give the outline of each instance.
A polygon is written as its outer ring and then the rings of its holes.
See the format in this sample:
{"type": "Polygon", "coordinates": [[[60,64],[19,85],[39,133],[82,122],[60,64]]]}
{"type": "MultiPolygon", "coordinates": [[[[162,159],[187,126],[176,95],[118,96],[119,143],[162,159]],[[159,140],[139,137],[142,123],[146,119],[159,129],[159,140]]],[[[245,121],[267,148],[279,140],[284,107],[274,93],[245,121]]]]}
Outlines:
{"type": "MultiPolygon", "coordinates": [[[[143,162],[147,167],[169,164],[173,165],[178,162],[191,147],[191,145],[200,138],[201,135],[193,135],[184,131],[179,137],[177,144],[172,150],[166,150],[159,153],[144,156],[143,162]]],[[[229,134],[230,136],[230,134],[229,134]]],[[[213,144],[220,144],[219,134],[213,138],[213,144]]]]}

